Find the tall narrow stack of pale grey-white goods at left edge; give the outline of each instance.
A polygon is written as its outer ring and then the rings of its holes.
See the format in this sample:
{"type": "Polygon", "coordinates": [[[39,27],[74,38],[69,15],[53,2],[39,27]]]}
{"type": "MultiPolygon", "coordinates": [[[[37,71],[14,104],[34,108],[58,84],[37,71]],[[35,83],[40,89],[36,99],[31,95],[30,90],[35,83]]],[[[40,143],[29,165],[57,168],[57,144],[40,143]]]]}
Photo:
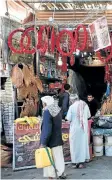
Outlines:
{"type": "Polygon", "coordinates": [[[2,121],[7,143],[13,143],[13,121],[15,119],[14,93],[10,78],[7,78],[5,90],[1,91],[2,121]]]}

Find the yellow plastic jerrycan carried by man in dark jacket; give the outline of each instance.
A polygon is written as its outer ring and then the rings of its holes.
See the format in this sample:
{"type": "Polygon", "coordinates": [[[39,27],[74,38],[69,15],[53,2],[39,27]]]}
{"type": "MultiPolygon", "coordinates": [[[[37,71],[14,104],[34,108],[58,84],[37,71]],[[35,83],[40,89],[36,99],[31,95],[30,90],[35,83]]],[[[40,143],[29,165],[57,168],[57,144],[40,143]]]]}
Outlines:
{"type": "Polygon", "coordinates": [[[44,168],[51,166],[52,165],[51,162],[53,162],[53,158],[50,148],[40,148],[35,151],[35,163],[37,168],[44,168]],[[48,156],[48,153],[50,155],[50,158],[48,156]]]}

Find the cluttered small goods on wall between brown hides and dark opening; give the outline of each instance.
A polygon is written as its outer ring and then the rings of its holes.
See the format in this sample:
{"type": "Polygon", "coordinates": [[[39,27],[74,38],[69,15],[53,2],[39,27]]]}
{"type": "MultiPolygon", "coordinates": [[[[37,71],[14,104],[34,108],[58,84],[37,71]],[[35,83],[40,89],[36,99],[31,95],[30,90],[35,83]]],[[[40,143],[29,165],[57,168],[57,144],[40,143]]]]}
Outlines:
{"type": "Polygon", "coordinates": [[[57,60],[49,56],[40,56],[40,70],[39,76],[43,82],[43,89],[41,95],[56,95],[58,90],[62,88],[64,78],[67,78],[67,72],[63,72],[57,66],[57,60]]]}

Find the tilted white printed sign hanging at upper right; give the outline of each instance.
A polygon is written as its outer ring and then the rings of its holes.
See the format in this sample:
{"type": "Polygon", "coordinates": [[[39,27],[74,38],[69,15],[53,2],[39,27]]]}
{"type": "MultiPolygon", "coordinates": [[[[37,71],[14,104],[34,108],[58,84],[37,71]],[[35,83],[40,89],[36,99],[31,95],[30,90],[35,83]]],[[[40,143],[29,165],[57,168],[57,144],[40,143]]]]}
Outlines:
{"type": "Polygon", "coordinates": [[[89,31],[95,52],[111,45],[107,19],[105,16],[98,18],[91,23],[89,25],[89,31]]]}

